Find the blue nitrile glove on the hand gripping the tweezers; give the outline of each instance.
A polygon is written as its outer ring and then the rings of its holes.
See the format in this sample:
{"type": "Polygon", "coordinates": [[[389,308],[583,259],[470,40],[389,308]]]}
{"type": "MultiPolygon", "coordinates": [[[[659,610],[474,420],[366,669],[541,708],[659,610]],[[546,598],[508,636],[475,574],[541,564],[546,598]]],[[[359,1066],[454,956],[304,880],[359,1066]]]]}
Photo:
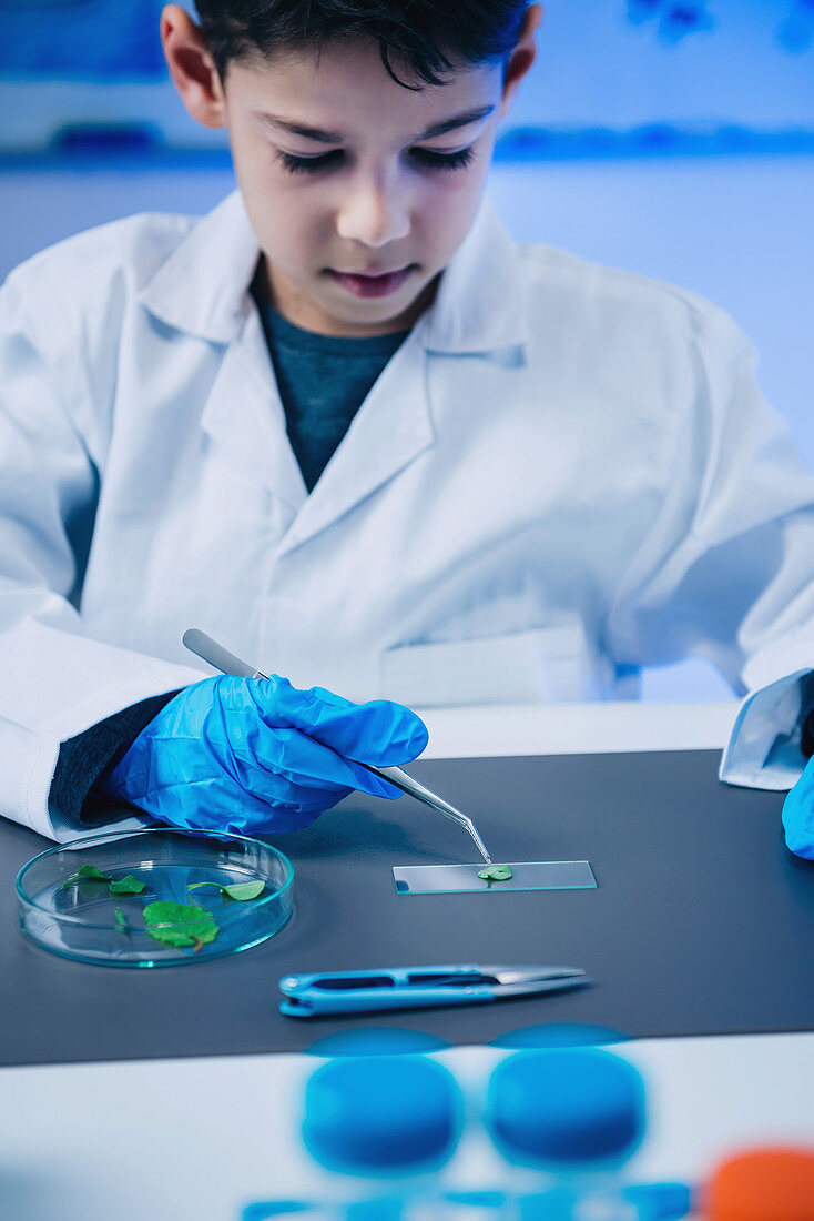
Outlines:
{"type": "Polygon", "coordinates": [[[239,834],[308,827],[354,789],[400,791],[350,759],[388,767],[427,745],[389,700],[355,705],[288,679],[217,675],[184,687],[94,791],[161,822],[239,834]]]}

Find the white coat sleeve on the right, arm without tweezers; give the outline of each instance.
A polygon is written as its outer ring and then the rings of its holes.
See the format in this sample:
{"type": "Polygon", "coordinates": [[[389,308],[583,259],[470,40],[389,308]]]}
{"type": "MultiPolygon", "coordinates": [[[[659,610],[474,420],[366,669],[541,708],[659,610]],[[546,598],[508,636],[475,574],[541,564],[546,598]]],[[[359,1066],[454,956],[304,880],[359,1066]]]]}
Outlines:
{"type": "Polygon", "coordinates": [[[720,778],[787,789],[814,707],[814,477],[721,310],[691,299],[660,512],[609,617],[618,661],[701,656],[742,695],[720,778]]]}

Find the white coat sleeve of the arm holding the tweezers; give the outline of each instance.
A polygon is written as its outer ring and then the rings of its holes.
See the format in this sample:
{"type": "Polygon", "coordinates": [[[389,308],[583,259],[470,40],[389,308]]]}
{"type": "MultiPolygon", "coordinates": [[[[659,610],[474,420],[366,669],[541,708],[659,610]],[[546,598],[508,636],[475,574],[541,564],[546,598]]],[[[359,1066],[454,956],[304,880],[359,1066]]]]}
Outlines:
{"type": "Polygon", "coordinates": [[[49,311],[45,294],[29,310],[20,278],[0,289],[0,813],[65,840],[81,828],[49,810],[61,742],[205,675],[83,630],[77,607],[104,462],[88,341],[78,320],[49,311]]]}

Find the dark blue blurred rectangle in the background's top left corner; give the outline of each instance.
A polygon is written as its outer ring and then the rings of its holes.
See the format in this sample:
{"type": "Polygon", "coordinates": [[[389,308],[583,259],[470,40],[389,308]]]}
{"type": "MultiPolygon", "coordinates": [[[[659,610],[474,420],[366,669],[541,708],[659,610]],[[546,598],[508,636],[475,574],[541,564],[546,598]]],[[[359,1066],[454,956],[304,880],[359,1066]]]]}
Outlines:
{"type": "Polygon", "coordinates": [[[165,72],[160,0],[0,0],[0,74],[155,79],[165,72]]]}

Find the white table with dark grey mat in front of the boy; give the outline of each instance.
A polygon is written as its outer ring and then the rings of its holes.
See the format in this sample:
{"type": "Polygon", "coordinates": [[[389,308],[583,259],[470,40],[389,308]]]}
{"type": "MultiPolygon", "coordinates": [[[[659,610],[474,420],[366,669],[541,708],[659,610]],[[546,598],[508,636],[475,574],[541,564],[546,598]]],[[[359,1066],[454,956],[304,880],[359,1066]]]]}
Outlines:
{"type": "Polygon", "coordinates": [[[460,1186],[504,1173],[477,1110],[508,1054],[494,1040],[539,1023],[627,1037],[613,1048],[641,1068],[649,1099],[635,1178],[694,1179],[736,1148],[810,1144],[814,864],[782,844],[782,794],[719,784],[736,708],[419,709],[431,740],[410,770],[475,816],[495,860],[587,858],[597,890],[397,895],[391,864],[469,860],[471,844],[408,797],[354,795],[273,838],[299,883],[289,926],[206,966],[110,969],[26,941],[13,874],[46,845],[1,827],[2,1215],[239,1221],[253,1199],[336,1192],[298,1123],[320,1062],[309,1046],[349,1022],[276,1010],[283,973],[328,967],[539,962],[548,951],[596,979],[533,1000],[354,1020],[447,1045],[433,1055],[475,1116],[449,1167],[460,1186]],[[362,845],[353,853],[349,835],[362,845]]]}

